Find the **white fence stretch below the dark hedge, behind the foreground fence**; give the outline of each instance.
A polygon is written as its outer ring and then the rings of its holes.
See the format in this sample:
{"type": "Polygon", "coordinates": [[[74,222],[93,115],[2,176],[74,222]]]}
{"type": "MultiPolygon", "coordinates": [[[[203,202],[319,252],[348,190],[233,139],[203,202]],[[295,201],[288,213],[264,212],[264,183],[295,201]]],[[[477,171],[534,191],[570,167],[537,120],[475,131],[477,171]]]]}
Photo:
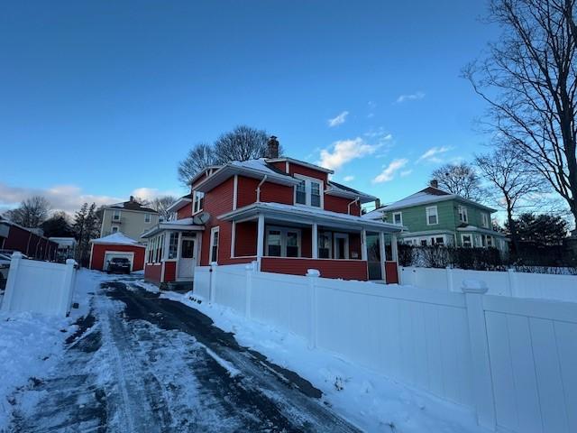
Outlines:
{"type": "Polygon", "coordinates": [[[399,267],[400,284],[422,289],[461,291],[463,281],[484,281],[490,295],[577,302],[577,275],[496,271],[467,271],[399,267]]]}

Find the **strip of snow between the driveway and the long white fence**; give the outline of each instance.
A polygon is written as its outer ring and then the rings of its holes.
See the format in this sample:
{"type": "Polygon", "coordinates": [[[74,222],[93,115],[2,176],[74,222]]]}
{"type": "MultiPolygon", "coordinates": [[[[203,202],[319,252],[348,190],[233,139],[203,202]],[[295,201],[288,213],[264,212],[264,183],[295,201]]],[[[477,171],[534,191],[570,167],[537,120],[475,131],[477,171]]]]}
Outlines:
{"type": "Polygon", "coordinates": [[[192,292],[166,292],[164,298],[198,309],[215,326],[233,332],[241,345],[312,382],[343,418],[366,431],[403,433],[480,433],[471,410],[392,382],[329,352],[307,348],[307,340],[247,320],[232,309],[198,302],[192,292]]]}

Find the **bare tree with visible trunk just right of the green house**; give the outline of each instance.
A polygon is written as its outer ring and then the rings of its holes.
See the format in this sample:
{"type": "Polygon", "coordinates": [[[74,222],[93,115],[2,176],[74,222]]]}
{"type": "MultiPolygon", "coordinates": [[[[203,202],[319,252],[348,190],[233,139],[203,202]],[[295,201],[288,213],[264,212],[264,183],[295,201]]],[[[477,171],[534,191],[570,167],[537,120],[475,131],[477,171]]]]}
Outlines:
{"type": "Polygon", "coordinates": [[[518,148],[501,146],[497,150],[475,158],[481,175],[496,191],[495,202],[507,212],[508,229],[513,248],[518,251],[518,237],[513,219],[517,205],[531,194],[545,192],[544,181],[536,178],[522,163],[518,148]]]}

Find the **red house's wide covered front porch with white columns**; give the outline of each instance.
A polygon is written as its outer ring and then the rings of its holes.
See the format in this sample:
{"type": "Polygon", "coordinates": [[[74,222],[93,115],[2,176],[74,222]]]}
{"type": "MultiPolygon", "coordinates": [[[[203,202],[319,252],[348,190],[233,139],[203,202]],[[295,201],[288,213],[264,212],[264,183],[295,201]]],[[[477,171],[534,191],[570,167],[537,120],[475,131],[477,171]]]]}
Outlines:
{"type": "Polygon", "coordinates": [[[253,258],[262,272],[398,282],[398,226],[335,212],[259,203],[223,216],[232,222],[231,257],[253,258]],[[382,259],[381,259],[382,258],[382,259]]]}

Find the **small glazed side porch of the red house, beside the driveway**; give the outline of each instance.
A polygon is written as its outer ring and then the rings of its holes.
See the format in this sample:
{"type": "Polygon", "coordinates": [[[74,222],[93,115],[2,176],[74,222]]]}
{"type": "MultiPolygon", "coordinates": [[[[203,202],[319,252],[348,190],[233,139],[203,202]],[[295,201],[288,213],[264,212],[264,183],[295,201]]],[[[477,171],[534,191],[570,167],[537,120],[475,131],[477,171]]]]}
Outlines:
{"type": "Polygon", "coordinates": [[[160,223],[145,232],[144,279],[155,284],[189,282],[194,279],[204,226],[192,218],[160,223]]]}

